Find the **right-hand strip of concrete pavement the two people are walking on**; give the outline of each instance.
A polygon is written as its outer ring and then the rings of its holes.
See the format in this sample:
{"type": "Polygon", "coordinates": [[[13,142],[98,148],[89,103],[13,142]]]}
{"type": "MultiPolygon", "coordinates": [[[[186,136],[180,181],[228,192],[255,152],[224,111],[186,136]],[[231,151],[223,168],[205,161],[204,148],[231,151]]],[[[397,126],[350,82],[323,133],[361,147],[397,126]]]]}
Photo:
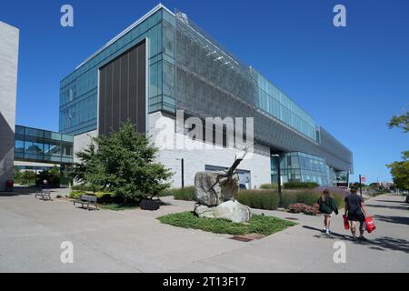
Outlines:
{"type": "Polygon", "coordinates": [[[298,226],[265,237],[251,245],[172,271],[235,272],[408,272],[409,210],[402,196],[377,196],[366,201],[376,230],[365,233],[365,243],[351,241],[344,231],[342,213],[332,218],[333,236],[321,233],[323,218],[280,211],[254,212],[281,218],[294,217],[298,226]],[[335,264],[334,242],[346,245],[346,264],[335,264]]]}

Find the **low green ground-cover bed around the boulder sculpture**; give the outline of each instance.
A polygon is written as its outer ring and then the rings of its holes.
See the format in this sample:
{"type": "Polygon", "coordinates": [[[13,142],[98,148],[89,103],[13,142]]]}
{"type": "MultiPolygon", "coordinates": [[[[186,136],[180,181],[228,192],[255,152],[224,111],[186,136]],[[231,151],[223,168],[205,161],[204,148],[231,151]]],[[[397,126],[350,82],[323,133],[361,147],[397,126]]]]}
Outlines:
{"type": "Polygon", "coordinates": [[[294,222],[284,219],[259,215],[253,215],[248,224],[237,224],[220,218],[200,218],[191,211],[161,216],[157,219],[166,225],[201,229],[216,234],[234,236],[253,233],[270,236],[289,226],[296,225],[294,222]]]}

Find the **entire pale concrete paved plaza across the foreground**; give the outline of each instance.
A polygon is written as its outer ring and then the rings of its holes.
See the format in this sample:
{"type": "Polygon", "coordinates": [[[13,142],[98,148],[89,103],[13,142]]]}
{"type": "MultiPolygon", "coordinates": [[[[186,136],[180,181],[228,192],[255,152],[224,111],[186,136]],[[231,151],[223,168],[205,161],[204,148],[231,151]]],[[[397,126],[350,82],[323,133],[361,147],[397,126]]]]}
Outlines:
{"type": "MultiPolygon", "coordinates": [[[[53,193],[65,195],[64,191],[53,193]]],[[[376,231],[368,243],[350,240],[341,216],[334,236],[322,217],[263,211],[298,218],[298,226],[243,243],[200,230],[162,225],[155,219],[191,210],[193,203],[164,199],[159,211],[86,211],[33,194],[0,194],[0,272],[408,272],[409,210],[401,196],[367,202],[376,231]],[[74,264],[62,264],[60,245],[74,244],[74,264]],[[335,241],[346,244],[346,263],[333,260],[335,241]]],[[[256,211],[261,212],[261,211],[256,211]]]]}

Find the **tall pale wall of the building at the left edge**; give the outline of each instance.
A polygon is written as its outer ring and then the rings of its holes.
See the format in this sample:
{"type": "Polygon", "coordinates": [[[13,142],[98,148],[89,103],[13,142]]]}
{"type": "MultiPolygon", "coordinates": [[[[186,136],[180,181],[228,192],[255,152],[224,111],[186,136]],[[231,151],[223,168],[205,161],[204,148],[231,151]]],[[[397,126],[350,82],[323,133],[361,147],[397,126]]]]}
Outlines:
{"type": "Polygon", "coordinates": [[[0,191],[13,179],[19,30],[0,21],[0,191]]]}

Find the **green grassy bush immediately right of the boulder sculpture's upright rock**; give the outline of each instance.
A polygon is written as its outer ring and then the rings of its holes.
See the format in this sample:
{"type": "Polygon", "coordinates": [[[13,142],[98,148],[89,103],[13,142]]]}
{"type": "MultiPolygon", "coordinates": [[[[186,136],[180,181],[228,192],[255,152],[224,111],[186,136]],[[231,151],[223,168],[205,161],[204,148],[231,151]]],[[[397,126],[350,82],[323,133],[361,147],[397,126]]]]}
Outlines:
{"type": "Polygon", "coordinates": [[[278,194],[274,190],[242,190],[236,197],[244,206],[274,210],[278,207],[278,194]]]}

